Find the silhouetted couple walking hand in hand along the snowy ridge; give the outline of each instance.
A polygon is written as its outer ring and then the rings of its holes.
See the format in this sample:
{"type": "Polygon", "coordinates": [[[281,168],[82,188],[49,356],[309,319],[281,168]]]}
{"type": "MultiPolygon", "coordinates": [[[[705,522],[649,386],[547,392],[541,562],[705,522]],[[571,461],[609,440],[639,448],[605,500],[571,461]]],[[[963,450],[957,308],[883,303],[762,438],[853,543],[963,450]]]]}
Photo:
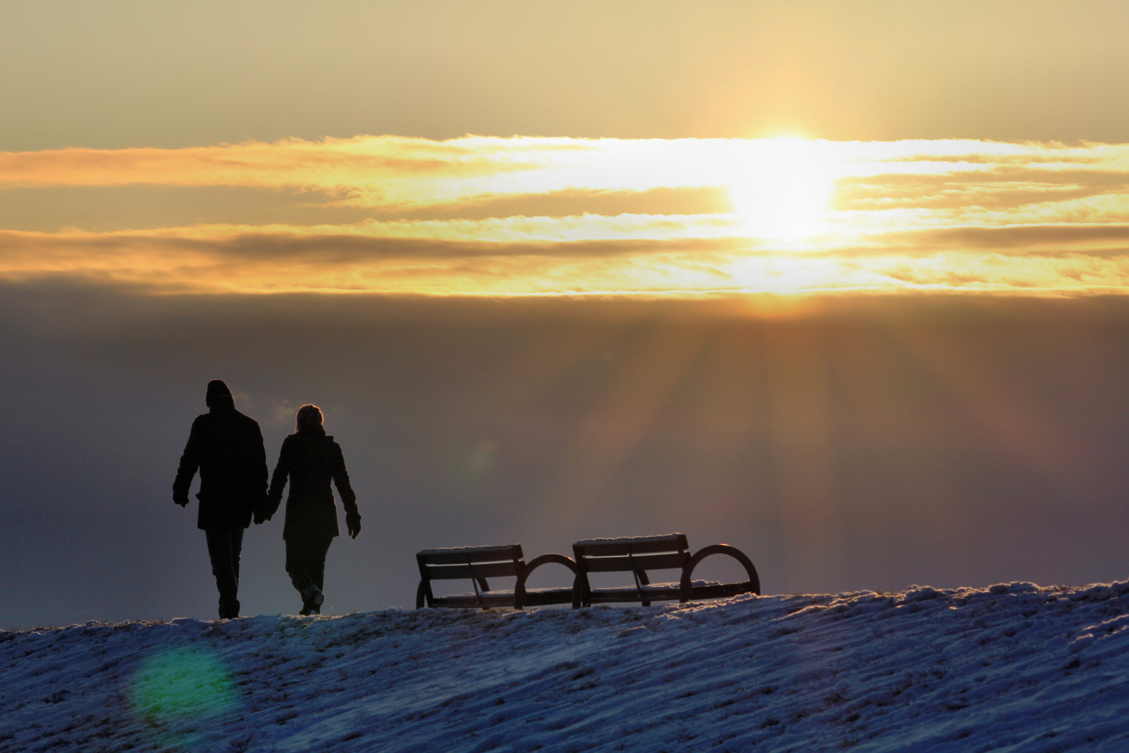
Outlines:
{"type": "Polygon", "coordinates": [[[208,539],[208,555],[219,588],[219,616],[239,616],[239,553],[243,532],[270,520],[286,501],[286,571],[301,595],[300,614],[321,614],[325,596],[325,554],[340,535],[338,508],[330,482],[336,484],[345,509],[345,528],[353,539],[360,533],[357,494],[349,484],[341,446],[322,428],[316,405],[298,409],[297,430],[282,441],[278,464],[266,485],[266,452],[259,423],[235,410],[235,399],[219,379],[208,383],[208,412],[192,422],[189,444],[173,482],[173,501],[189,504],[189,489],[200,471],[200,511],[196,527],[208,539]]]}

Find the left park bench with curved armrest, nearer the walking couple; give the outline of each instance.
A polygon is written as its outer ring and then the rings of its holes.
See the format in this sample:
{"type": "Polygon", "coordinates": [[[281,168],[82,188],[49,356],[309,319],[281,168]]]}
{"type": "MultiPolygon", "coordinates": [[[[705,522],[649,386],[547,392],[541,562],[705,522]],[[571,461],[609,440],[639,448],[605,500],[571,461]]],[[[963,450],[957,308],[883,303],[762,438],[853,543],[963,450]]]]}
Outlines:
{"type": "Polygon", "coordinates": [[[574,573],[576,563],[563,554],[542,554],[526,563],[520,544],[506,546],[464,546],[461,549],[425,549],[415,554],[420,568],[420,585],[415,590],[415,608],[427,606],[449,606],[456,608],[483,608],[568,604],[572,601],[571,588],[530,588],[525,581],[530,573],[542,564],[563,564],[574,573]],[[517,578],[514,590],[490,590],[487,578],[517,578]],[[436,596],[431,592],[434,580],[469,579],[474,593],[454,596],[436,596]]]}

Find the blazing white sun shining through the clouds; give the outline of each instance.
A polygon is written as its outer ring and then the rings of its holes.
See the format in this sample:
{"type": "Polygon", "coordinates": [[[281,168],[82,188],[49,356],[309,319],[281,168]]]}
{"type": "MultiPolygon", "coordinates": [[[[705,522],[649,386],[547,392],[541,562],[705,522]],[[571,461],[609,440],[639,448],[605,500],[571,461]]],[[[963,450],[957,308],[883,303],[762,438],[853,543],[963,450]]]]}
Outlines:
{"type": "Polygon", "coordinates": [[[817,142],[752,141],[735,167],[729,195],[751,236],[795,240],[822,230],[833,176],[817,142]]]}

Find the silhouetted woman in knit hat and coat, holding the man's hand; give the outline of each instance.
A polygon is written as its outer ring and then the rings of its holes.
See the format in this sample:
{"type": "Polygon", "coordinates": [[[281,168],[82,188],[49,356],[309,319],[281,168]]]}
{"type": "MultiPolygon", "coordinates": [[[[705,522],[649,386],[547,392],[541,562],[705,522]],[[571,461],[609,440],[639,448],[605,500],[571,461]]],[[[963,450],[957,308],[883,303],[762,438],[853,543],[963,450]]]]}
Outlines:
{"type": "Polygon", "coordinates": [[[266,507],[255,516],[255,523],[270,520],[278,510],[287,476],[290,476],[290,494],[282,526],[286,571],[301,594],[301,614],[321,614],[325,602],[322,595],[325,553],[333,537],[341,534],[331,480],[338,485],[341,506],[345,508],[345,528],[353,539],[360,533],[360,513],[357,511],[357,494],[349,485],[341,446],[326,436],[317,405],[298,409],[298,430],[282,440],[266,507]]]}

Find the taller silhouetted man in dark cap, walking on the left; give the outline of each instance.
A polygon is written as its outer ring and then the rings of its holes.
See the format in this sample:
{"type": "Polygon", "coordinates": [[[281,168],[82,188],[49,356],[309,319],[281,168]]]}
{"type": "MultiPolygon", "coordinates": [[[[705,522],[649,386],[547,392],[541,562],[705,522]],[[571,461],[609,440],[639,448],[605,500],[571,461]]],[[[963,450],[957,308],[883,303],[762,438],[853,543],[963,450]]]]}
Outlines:
{"type": "Polygon", "coordinates": [[[208,412],[192,422],[189,444],[173,482],[173,501],[185,507],[200,469],[196,527],[208,536],[208,555],[219,588],[219,616],[239,616],[239,552],[252,511],[266,498],[266,450],[259,424],[235,410],[231,391],[208,383],[208,412]]]}

